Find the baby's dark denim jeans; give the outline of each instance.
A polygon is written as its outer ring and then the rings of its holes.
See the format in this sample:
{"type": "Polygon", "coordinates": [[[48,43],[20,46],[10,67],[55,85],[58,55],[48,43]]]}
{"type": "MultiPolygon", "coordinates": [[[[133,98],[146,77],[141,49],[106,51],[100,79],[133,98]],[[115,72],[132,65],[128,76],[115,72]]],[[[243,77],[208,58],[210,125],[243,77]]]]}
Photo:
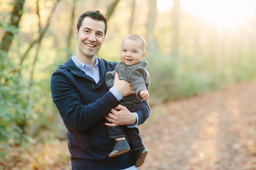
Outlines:
{"type": "MultiPolygon", "coordinates": [[[[120,100],[118,104],[125,106],[130,112],[136,112],[140,108],[140,103],[142,101],[137,98],[136,94],[132,94],[129,96],[124,97],[122,100],[120,100]]],[[[117,106],[116,105],[116,106],[117,106]]],[[[125,132],[127,133],[133,151],[138,151],[141,149],[145,149],[145,147],[142,144],[142,140],[140,137],[140,132],[138,128],[128,128],[127,125],[124,126],[114,126],[109,127],[107,126],[109,131],[109,138],[115,139],[115,138],[121,138],[126,137],[125,132]]]]}

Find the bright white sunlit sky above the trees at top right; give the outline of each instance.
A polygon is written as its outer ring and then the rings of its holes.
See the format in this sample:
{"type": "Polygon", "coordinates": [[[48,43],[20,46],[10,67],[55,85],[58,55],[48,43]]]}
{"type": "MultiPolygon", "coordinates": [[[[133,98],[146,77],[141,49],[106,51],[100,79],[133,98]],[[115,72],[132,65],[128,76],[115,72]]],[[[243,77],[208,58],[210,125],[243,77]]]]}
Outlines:
{"type": "MultiPolygon", "coordinates": [[[[157,7],[164,12],[173,1],[157,0],[157,7]]],[[[214,21],[221,25],[233,25],[255,13],[255,0],[181,0],[181,8],[194,16],[214,21]]]]}

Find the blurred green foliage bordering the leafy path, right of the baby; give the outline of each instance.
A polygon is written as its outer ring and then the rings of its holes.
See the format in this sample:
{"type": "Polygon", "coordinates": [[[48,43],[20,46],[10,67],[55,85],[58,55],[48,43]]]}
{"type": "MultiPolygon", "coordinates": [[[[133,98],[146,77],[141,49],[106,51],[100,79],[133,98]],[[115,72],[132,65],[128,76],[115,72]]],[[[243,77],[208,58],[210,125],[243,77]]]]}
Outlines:
{"type": "Polygon", "coordinates": [[[221,69],[217,69],[219,63],[214,58],[199,56],[147,54],[146,60],[151,76],[150,105],[197,96],[256,78],[253,51],[245,52],[237,61],[224,63],[221,69]]]}

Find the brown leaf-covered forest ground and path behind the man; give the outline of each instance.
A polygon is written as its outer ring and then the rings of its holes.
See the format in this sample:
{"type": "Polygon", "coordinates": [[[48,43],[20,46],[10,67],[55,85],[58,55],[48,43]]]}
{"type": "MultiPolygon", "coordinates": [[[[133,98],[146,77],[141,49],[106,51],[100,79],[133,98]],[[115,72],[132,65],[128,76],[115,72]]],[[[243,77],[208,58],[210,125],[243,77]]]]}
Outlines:
{"type": "MultiPolygon", "coordinates": [[[[254,170],[256,81],[154,106],[138,128],[148,150],[139,170],[254,170]]],[[[1,167],[70,170],[67,141],[12,148],[1,167]]]]}

